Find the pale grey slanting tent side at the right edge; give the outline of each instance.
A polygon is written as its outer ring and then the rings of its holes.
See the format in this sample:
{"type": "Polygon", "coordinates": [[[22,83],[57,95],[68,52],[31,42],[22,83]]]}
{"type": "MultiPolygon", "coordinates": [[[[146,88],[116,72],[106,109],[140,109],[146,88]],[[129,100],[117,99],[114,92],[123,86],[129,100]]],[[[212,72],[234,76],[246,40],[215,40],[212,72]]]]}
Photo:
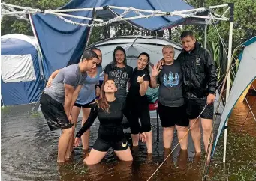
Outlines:
{"type": "Polygon", "coordinates": [[[228,96],[221,116],[221,123],[218,127],[218,135],[215,140],[213,151],[215,150],[216,144],[218,143],[218,138],[224,129],[224,125],[227,121],[227,118],[230,116],[233,107],[236,105],[236,102],[248,87],[248,85],[251,85],[251,82],[256,79],[256,37],[253,37],[243,43],[243,46],[245,46],[245,48],[243,49],[242,54],[239,56],[239,69],[236,73],[236,79],[233,82],[230,96],[228,96]]]}

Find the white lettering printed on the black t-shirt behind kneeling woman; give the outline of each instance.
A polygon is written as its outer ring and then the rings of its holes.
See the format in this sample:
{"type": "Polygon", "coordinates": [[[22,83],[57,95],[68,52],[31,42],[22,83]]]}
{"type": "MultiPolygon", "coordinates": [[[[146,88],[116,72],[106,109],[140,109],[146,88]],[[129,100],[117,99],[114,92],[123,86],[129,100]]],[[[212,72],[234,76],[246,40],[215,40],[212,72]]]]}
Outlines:
{"type": "Polygon", "coordinates": [[[109,76],[113,77],[117,88],[126,88],[128,73],[123,72],[122,70],[112,70],[110,71],[109,76]]]}

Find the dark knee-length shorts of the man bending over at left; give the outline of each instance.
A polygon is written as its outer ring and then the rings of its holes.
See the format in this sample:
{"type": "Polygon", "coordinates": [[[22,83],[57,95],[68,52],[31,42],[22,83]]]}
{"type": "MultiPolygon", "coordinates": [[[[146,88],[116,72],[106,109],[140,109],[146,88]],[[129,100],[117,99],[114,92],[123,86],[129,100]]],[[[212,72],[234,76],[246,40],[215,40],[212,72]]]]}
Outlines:
{"type": "Polygon", "coordinates": [[[42,93],[40,105],[51,131],[71,128],[74,125],[74,123],[70,123],[68,120],[62,103],[57,102],[46,93],[42,93]]]}

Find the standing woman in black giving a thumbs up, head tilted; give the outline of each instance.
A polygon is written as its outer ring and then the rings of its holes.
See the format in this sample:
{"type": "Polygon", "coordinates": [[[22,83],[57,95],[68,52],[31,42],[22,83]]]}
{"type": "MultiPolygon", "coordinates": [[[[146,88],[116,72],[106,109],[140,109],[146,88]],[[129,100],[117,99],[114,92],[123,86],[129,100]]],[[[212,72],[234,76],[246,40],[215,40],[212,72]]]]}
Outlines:
{"type": "Polygon", "coordinates": [[[149,87],[149,54],[143,52],[137,59],[137,67],[131,76],[131,88],[127,96],[128,108],[131,111],[131,138],[133,146],[138,146],[139,133],[146,135],[147,152],[152,153],[152,131],[149,115],[149,102],[145,96],[149,87]],[[139,117],[140,123],[139,124],[139,117]]]}

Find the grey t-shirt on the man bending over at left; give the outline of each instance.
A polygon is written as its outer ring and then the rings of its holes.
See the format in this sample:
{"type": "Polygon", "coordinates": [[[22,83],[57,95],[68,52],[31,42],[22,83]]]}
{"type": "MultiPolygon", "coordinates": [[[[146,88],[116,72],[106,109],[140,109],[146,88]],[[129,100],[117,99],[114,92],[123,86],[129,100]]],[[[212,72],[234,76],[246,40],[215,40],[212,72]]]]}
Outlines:
{"type": "Polygon", "coordinates": [[[59,103],[63,104],[65,100],[64,84],[74,86],[75,89],[78,85],[83,85],[86,81],[86,76],[86,73],[80,72],[78,64],[72,64],[68,67],[64,67],[59,70],[59,73],[53,79],[50,88],[44,88],[44,92],[59,103]]]}

